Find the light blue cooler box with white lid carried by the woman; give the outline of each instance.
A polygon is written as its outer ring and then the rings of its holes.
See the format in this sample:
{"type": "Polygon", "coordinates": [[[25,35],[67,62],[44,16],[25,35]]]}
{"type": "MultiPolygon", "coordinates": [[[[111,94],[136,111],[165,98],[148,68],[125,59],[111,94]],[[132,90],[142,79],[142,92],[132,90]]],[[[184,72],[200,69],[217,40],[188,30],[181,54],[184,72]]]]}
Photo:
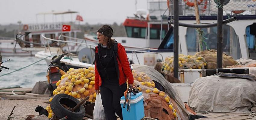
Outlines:
{"type": "Polygon", "coordinates": [[[121,97],[121,107],[123,113],[123,120],[140,120],[144,117],[144,105],[143,105],[143,98],[142,92],[133,95],[131,93],[131,101],[130,101],[130,109],[127,111],[127,103],[125,108],[123,108],[123,104],[125,101],[125,97],[121,97]]]}

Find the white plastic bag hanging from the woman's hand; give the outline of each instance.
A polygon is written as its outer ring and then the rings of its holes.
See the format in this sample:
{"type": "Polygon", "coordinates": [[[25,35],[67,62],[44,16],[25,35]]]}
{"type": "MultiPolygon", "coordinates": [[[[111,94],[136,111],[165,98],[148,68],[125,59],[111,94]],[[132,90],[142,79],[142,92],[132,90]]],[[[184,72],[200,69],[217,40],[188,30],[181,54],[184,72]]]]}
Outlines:
{"type": "Polygon", "coordinates": [[[96,96],[93,109],[93,120],[106,120],[100,94],[97,94],[96,96]]]}

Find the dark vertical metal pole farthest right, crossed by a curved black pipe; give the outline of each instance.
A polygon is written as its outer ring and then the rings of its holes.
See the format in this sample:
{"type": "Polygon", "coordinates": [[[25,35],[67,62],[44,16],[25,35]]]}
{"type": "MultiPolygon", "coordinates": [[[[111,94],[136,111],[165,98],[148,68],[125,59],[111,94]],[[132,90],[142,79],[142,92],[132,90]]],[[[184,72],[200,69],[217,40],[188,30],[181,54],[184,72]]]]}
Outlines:
{"type": "Polygon", "coordinates": [[[217,68],[222,68],[222,20],[223,20],[223,0],[220,0],[220,6],[218,6],[218,18],[217,18],[217,68]]]}

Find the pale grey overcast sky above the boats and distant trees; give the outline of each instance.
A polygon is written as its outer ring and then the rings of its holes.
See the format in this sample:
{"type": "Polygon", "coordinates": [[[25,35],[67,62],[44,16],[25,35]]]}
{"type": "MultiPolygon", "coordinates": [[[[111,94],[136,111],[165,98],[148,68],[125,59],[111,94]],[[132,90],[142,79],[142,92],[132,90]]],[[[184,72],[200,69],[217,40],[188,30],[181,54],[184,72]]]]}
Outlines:
{"type": "MultiPolygon", "coordinates": [[[[77,11],[83,17],[81,24],[120,24],[135,13],[135,0],[1,0],[0,24],[21,21],[23,24],[44,22],[37,13],[54,11],[77,11]]],[[[147,9],[147,0],[137,0],[137,9],[147,9]]],[[[45,22],[71,21],[71,15],[45,15],[45,22]]],[[[76,14],[72,15],[73,21],[76,14]]]]}

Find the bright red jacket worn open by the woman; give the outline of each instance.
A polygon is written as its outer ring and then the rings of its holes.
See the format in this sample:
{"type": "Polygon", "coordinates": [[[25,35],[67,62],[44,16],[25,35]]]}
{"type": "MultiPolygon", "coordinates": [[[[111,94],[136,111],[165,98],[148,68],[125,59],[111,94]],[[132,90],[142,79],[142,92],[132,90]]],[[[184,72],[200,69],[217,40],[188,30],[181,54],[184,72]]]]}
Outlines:
{"type": "MultiPolygon", "coordinates": [[[[129,61],[127,59],[127,55],[125,52],[124,47],[118,43],[118,69],[119,69],[119,85],[122,85],[126,82],[128,79],[128,84],[133,84],[133,73],[130,68],[129,61]]],[[[98,46],[95,47],[95,53],[98,53],[98,46]]],[[[96,61],[95,61],[95,90],[99,89],[99,86],[101,86],[101,77],[98,73],[97,67],[96,67],[96,61]]]]}

